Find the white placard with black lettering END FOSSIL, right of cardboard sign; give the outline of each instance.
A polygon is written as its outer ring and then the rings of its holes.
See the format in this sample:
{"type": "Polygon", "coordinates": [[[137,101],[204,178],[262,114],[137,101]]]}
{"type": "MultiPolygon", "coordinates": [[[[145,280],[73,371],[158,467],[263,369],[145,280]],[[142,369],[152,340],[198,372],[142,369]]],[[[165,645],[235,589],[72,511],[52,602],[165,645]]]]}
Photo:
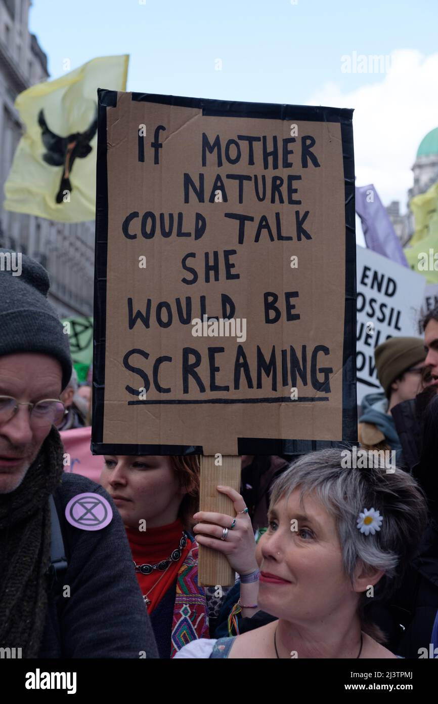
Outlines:
{"type": "Polygon", "coordinates": [[[375,348],[390,337],[420,337],[425,279],[371,249],[357,247],[357,402],[382,391],[375,348]]]}

